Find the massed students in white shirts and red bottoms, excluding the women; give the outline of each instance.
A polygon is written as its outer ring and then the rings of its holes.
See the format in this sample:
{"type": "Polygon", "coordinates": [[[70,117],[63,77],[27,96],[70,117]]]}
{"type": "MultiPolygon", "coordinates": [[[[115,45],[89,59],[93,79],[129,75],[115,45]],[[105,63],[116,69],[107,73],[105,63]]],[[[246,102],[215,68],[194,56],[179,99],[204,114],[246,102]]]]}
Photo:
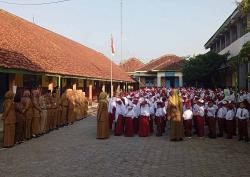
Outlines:
{"type": "MultiPolygon", "coordinates": [[[[234,104],[230,99],[225,100],[221,90],[180,88],[179,91],[183,98],[182,118],[186,137],[190,138],[192,134],[204,137],[207,124],[208,137],[222,137],[226,133],[227,138],[232,138],[236,135],[238,125],[239,140],[249,140],[249,112],[245,99],[239,99],[240,104],[237,108],[238,104],[234,104]]],[[[147,137],[154,131],[155,124],[156,136],[162,136],[166,122],[171,119],[167,102],[170,96],[171,89],[146,88],[112,97],[108,108],[110,129],[115,124],[115,136],[124,134],[131,137],[138,134],[140,137],[147,137]]]]}

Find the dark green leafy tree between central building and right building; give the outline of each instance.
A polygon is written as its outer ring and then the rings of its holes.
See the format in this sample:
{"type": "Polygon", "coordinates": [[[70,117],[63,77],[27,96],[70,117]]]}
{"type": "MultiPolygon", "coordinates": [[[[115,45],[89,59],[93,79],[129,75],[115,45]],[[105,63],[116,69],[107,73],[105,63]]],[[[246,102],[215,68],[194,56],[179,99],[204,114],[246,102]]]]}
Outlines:
{"type": "Polygon", "coordinates": [[[216,77],[218,69],[223,63],[226,63],[226,60],[226,55],[218,55],[214,52],[208,52],[186,60],[183,67],[185,84],[211,87],[215,84],[214,77],[216,77]]]}

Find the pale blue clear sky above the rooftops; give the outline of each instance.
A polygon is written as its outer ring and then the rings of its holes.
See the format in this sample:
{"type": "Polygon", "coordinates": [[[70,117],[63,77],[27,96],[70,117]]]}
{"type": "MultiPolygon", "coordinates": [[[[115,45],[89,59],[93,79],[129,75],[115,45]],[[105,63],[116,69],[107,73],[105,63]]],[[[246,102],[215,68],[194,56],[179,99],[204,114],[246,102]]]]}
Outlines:
{"type": "MultiPolygon", "coordinates": [[[[5,0],[41,3],[55,0],[5,0]]],[[[166,54],[205,53],[205,43],[236,8],[235,0],[71,0],[42,6],[4,4],[0,8],[68,37],[111,58],[111,34],[120,63],[131,57],[144,63],[166,54]]]]}

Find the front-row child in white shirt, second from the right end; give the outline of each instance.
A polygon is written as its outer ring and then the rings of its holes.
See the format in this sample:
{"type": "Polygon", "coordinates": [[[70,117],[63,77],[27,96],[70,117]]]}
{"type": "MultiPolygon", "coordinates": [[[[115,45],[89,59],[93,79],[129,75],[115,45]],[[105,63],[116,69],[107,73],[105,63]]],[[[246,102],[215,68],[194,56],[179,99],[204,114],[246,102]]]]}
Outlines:
{"type": "Polygon", "coordinates": [[[227,138],[232,139],[233,138],[233,120],[234,120],[234,105],[230,103],[228,105],[228,111],[226,114],[226,126],[227,126],[227,138]]]}

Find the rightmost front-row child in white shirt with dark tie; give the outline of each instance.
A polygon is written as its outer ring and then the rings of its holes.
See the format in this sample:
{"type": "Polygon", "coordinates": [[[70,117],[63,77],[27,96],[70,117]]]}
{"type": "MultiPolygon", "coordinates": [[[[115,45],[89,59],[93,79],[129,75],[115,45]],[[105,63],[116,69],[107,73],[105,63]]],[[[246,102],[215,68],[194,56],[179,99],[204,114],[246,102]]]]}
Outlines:
{"type": "Polygon", "coordinates": [[[236,118],[238,119],[238,135],[239,141],[245,139],[246,142],[249,141],[248,138],[248,118],[249,112],[245,108],[243,102],[240,103],[240,107],[237,109],[236,118]]]}

